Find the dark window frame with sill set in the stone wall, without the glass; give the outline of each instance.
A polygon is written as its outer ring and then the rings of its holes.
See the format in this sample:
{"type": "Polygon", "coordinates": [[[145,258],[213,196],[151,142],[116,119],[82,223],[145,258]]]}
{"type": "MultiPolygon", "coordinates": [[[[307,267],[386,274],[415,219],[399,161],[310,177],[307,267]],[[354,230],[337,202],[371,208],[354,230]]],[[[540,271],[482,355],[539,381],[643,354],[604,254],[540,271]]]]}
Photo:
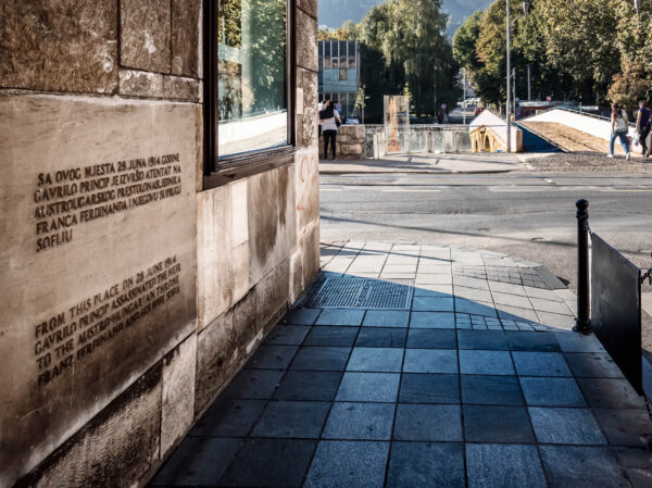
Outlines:
{"type": "Polygon", "coordinates": [[[288,104],[288,143],[241,154],[220,158],[217,122],[217,0],[203,0],[203,189],[208,190],[258,173],[286,166],[294,161],[297,93],[296,4],[287,0],[286,92],[288,104]]]}

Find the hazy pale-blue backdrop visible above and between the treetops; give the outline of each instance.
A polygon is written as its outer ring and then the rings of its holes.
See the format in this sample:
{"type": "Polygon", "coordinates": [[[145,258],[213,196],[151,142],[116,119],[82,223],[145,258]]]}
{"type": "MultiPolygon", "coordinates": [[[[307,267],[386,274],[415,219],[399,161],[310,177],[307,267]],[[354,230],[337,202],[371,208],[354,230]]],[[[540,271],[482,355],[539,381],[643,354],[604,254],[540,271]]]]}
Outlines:
{"type": "MultiPolygon", "coordinates": [[[[364,14],[383,0],[318,0],[319,25],[330,28],[339,27],[344,21],[362,21],[364,14]]],[[[443,0],[443,11],[451,14],[447,34],[452,37],[456,28],[472,13],[487,9],[492,0],[443,0]]]]}

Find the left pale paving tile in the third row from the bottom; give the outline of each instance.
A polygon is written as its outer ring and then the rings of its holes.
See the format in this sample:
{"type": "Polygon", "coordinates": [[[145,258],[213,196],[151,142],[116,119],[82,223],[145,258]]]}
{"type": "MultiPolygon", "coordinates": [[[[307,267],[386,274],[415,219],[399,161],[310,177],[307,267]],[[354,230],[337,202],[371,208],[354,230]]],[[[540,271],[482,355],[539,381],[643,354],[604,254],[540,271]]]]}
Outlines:
{"type": "Polygon", "coordinates": [[[336,400],[396,402],[400,380],[396,373],[344,373],[336,400]]]}

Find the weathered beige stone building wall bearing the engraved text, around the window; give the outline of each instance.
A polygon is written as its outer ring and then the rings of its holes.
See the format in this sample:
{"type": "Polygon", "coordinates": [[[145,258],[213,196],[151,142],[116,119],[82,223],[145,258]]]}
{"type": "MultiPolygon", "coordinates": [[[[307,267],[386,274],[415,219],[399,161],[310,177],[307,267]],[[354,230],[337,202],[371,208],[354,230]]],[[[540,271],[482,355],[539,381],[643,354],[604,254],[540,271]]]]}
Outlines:
{"type": "Polygon", "coordinates": [[[318,267],[297,151],[203,191],[201,0],[0,5],[0,486],[145,485],[318,267]]]}

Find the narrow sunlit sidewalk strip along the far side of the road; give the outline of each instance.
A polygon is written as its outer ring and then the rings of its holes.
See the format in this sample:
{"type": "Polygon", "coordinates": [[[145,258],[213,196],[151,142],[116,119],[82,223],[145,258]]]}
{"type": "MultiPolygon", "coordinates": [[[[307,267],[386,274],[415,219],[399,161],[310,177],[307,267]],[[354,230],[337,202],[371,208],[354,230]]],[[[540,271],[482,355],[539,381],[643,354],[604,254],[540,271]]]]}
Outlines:
{"type": "Polygon", "coordinates": [[[491,174],[525,170],[515,154],[393,154],[380,160],[319,160],[319,173],[328,175],[356,173],[491,174]]]}

